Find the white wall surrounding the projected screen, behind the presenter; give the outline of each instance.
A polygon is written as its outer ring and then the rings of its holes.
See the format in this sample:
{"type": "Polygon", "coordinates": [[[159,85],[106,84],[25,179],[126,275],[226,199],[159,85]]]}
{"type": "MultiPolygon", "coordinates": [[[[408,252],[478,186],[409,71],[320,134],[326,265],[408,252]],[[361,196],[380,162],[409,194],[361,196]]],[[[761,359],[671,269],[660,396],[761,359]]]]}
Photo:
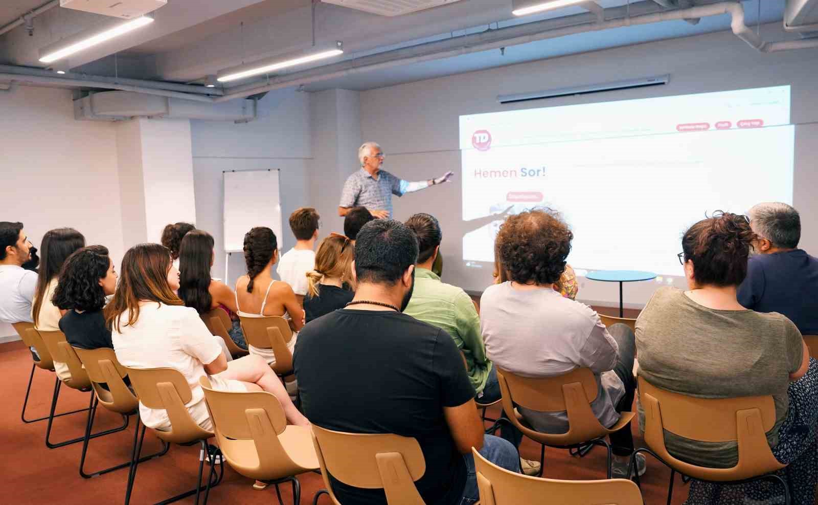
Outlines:
{"type": "MultiPolygon", "coordinates": [[[[762,26],[762,35],[780,39],[779,25],[762,26]]],[[[564,106],[595,101],[680,95],[738,88],[790,84],[792,122],[796,127],[794,204],[803,220],[802,247],[818,254],[818,186],[815,160],[818,153],[818,50],[761,54],[729,32],[677,38],[662,42],[618,47],[575,56],[512,65],[469,74],[452,75],[380,88],[361,93],[362,133],[380,142],[386,153],[384,168],[411,180],[429,178],[454,169],[459,173],[458,117],[465,114],[564,106]],[[603,83],[656,74],[672,74],[669,84],[579,97],[560,97],[501,105],[498,94],[603,83]]],[[[465,271],[461,261],[461,186],[457,182],[428,192],[395,199],[397,219],[424,211],[438,216],[443,226],[443,245],[448,282],[470,287],[474,270],[465,271]]],[[[575,189],[575,191],[581,191],[575,189]]],[[[627,196],[625,196],[627,197],[627,196]]],[[[615,201],[612,201],[615,205],[615,201]]],[[[479,273],[483,285],[488,272],[479,273]]],[[[584,300],[618,300],[613,283],[584,281],[584,300]]],[[[631,307],[644,304],[655,285],[649,282],[626,286],[631,307]]],[[[474,287],[472,289],[477,289],[474,287]]]]}

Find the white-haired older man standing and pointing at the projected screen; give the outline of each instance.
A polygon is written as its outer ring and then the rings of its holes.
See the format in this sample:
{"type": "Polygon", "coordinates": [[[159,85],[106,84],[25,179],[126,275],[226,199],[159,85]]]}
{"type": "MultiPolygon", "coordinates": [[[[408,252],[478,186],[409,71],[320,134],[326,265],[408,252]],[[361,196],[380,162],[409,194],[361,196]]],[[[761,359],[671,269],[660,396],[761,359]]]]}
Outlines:
{"type": "Polygon", "coordinates": [[[375,142],[364,142],[358,148],[358,160],[361,169],[350,175],[344,183],[338,215],[344,216],[353,207],[366,207],[379,219],[392,218],[392,195],[403,196],[405,193],[420,191],[429,186],[446,183],[454,172],[447,172],[441,177],[410,183],[397,178],[385,170],[384,152],[375,142]]]}

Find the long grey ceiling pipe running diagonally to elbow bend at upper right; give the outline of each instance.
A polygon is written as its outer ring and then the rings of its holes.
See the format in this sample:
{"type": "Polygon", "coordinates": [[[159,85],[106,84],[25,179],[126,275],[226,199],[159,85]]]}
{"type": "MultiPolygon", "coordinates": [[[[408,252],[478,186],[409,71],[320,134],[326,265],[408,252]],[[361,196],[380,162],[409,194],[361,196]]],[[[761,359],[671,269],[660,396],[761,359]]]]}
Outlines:
{"type": "MultiPolygon", "coordinates": [[[[631,6],[631,10],[634,6],[631,6]]],[[[658,6],[657,6],[658,7],[658,6]]],[[[334,65],[325,65],[313,70],[306,70],[298,74],[292,74],[288,77],[275,79],[275,82],[263,86],[242,86],[234,88],[232,91],[227,90],[227,94],[223,97],[218,97],[214,101],[227,101],[234,98],[249,97],[251,95],[268,92],[279,88],[289,88],[296,84],[308,84],[319,82],[326,79],[335,79],[345,77],[359,72],[370,70],[379,70],[393,67],[395,65],[411,65],[422,61],[438,60],[452,56],[459,56],[471,52],[482,52],[498,47],[508,47],[518,44],[530,43],[547,38],[558,38],[566,35],[580,34],[583,32],[600,31],[604,29],[621,28],[630,25],[647,25],[651,23],[658,23],[669,20],[684,20],[696,17],[718,16],[721,14],[730,14],[732,20],[730,28],[733,33],[748,43],[751,47],[755,47],[760,52],[779,52],[789,49],[803,49],[807,47],[818,47],[818,38],[807,38],[796,41],[784,41],[778,43],[766,43],[759,37],[752,29],[749,29],[744,24],[744,7],[737,2],[718,2],[709,5],[690,7],[688,9],[680,9],[676,11],[661,11],[649,14],[643,14],[633,17],[621,17],[622,8],[613,7],[605,9],[605,12],[616,11],[620,16],[619,19],[609,19],[602,22],[595,22],[596,16],[590,14],[582,14],[578,16],[569,16],[581,24],[564,26],[556,29],[540,29],[530,34],[521,34],[517,36],[507,37],[509,33],[519,31],[520,27],[527,28],[528,25],[519,25],[516,27],[495,29],[491,32],[482,32],[479,34],[464,35],[458,38],[444,39],[438,42],[426,43],[416,47],[407,47],[403,49],[396,49],[390,52],[375,54],[372,56],[363,56],[357,60],[343,61],[334,65]],[[415,53],[413,56],[411,53],[415,53]],[[405,56],[404,56],[405,55],[405,56]],[[372,61],[367,64],[363,61],[372,61]],[[338,70],[330,70],[338,69],[338,70]]],[[[607,16],[606,17],[611,17],[607,16]]],[[[531,27],[541,28],[542,24],[553,23],[559,21],[555,20],[540,21],[532,23],[531,27]]],[[[529,31],[530,31],[530,27],[529,31]]],[[[272,81],[273,79],[271,79],[272,81]]]]}

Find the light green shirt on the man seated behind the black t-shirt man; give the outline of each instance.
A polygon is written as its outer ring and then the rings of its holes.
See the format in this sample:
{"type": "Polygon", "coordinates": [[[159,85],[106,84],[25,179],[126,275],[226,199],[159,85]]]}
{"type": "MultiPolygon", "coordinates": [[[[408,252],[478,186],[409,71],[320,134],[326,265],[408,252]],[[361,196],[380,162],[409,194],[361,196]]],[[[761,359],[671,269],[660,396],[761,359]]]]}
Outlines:
{"type": "Polygon", "coordinates": [[[492,362],[480,335],[480,317],[474,302],[457,286],[440,282],[431,270],[415,268],[415,291],[403,313],[447,331],[468,363],[475,395],[483,392],[492,362]]]}

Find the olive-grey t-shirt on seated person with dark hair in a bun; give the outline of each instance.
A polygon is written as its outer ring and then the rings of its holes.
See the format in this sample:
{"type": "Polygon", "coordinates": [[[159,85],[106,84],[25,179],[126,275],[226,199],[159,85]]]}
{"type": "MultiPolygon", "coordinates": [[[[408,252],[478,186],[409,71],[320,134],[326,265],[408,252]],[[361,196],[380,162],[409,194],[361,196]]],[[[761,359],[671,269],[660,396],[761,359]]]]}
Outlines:
{"type": "MultiPolygon", "coordinates": [[[[772,395],[771,447],[789,408],[789,374],[802,362],[802,336],[780,313],[717,310],[681,290],[661,287],[636,320],[639,375],[663,390],[699,398],[772,395]]],[[[640,426],[645,426],[639,404],[640,426]]],[[[699,442],[665,432],[668,452],[685,462],[729,468],[735,442],[699,442]]]]}

